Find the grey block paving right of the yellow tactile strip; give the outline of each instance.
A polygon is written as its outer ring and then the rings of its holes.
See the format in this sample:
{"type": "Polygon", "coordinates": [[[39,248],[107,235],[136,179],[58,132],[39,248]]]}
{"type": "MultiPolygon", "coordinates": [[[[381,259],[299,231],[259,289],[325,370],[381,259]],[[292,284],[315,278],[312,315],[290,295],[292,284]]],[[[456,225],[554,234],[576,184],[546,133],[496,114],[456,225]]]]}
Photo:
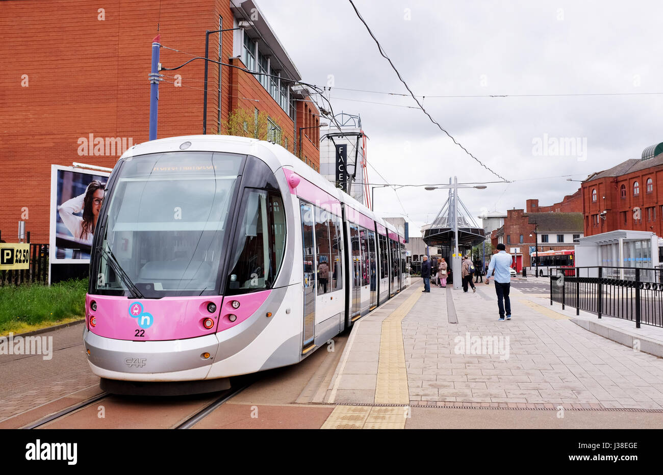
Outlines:
{"type": "Polygon", "coordinates": [[[476,286],[432,288],[402,320],[411,404],[663,409],[663,359],[528,304],[513,287],[512,320],[498,321],[494,286],[476,286]],[[448,322],[448,298],[457,324],[448,322]]]}

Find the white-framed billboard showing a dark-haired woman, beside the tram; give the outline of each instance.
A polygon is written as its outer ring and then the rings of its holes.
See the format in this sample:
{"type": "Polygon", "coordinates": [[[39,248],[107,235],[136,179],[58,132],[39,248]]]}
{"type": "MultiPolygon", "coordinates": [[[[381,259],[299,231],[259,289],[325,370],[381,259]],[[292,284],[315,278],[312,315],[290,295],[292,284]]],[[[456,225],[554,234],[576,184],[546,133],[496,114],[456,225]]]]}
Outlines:
{"type": "Polygon", "coordinates": [[[50,262],[90,262],[90,248],[109,174],[52,165],[50,262]]]}

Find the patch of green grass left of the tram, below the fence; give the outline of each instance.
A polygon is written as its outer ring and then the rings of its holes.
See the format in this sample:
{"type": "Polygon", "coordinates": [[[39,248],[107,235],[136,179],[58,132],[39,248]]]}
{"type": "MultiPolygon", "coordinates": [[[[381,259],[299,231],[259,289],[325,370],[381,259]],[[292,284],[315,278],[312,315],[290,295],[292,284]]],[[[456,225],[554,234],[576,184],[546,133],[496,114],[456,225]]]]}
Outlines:
{"type": "Polygon", "coordinates": [[[0,287],[0,333],[85,315],[88,280],[0,287]]]}

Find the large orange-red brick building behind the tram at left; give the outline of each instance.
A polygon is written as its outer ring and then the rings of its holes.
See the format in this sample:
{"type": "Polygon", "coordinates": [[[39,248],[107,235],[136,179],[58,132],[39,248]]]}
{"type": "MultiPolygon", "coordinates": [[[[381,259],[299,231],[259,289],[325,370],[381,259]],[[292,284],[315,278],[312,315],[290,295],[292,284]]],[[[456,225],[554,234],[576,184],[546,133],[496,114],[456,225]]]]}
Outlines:
{"type": "MultiPolygon", "coordinates": [[[[164,68],[204,56],[206,30],[241,28],[210,34],[209,57],[278,76],[210,63],[208,134],[228,133],[231,113],[251,134],[251,119],[261,117],[260,138],[299,156],[299,128],[320,125],[309,91],[293,91],[302,78],[253,0],[8,0],[0,9],[0,231],[8,242],[21,220],[32,242],[48,242],[51,164],[112,168],[126,148],[81,154],[82,138],[148,139],[157,28],[164,68]]],[[[203,132],[204,68],[194,60],[161,72],[158,138],[203,132]]],[[[318,130],[302,132],[302,160],[318,170],[318,130]]]]}

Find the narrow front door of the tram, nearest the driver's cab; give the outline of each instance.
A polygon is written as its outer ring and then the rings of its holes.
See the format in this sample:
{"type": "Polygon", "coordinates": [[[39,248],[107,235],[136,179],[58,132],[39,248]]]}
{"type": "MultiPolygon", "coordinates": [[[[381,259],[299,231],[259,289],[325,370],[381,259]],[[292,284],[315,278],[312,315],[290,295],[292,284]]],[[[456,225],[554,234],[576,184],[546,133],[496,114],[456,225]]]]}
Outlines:
{"type": "Polygon", "coordinates": [[[311,205],[301,203],[302,252],[304,256],[304,340],[302,350],[312,346],[316,331],[316,256],[313,241],[314,212],[311,205]]]}

